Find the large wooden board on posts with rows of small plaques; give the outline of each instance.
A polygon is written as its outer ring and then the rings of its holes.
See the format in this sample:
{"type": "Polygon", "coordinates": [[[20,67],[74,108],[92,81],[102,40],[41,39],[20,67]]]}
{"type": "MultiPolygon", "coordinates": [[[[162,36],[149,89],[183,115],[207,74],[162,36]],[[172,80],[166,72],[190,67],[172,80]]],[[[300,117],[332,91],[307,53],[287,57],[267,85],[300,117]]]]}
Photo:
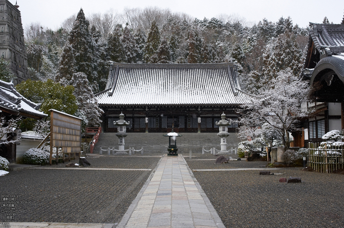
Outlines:
{"type": "Polygon", "coordinates": [[[50,114],[50,165],[52,164],[53,147],[57,147],[56,162],[58,163],[58,148],[62,148],[64,154],[81,152],[81,124],[82,119],[74,115],[66,114],[54,109],[50,114]]]}

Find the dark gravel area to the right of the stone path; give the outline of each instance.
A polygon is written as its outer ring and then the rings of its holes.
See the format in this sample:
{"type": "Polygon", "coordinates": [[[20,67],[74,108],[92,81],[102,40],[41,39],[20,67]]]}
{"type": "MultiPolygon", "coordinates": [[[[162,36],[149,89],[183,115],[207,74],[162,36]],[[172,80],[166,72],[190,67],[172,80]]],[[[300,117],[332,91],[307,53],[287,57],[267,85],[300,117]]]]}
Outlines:
{"type": "MultiPolygon", "coordinates": [[[[258,168],[267,162],[201,161],[213,155],[195,154],[193,169],[258,168]],[[198,160],[198,161],[197,161],[198,160]]],[[[344,175],[301,171],[301,168],[259,171],[194,171],[196,179],[227,228],[344,227],[344,175]],[[302,183],[280,183],[281,177],[301,177],[302,183]]]]}

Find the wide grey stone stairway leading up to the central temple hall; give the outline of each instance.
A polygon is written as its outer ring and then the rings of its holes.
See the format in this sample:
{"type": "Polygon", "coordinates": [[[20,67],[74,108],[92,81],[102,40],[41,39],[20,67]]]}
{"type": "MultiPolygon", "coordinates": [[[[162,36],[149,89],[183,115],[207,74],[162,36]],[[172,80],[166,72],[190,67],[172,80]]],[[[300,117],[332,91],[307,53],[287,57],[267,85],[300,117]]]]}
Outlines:
{"type": "MultiPolygon", "coordinates": [[[[116,133],[101,133],[98,143],[95,145],[93,153],[99,153],[102,149],[118,149],[118,138],[116,133]]],[[[139,150],[143,148],[144,153],[167,153],[169,137],[164,137],[166,133],[128,133],[125,137],[125,149],[129,147],[139,150]]],[[[182,137],[177,137],[178,153],[201,153],[202,147],[206,150],[215,147],[220,149],[220,138],[216,133],[179,133],[182,137]]],[[[237,147],[240,139],[235,133],[230,133],[227,138],[227,149],[237,147]]]]}

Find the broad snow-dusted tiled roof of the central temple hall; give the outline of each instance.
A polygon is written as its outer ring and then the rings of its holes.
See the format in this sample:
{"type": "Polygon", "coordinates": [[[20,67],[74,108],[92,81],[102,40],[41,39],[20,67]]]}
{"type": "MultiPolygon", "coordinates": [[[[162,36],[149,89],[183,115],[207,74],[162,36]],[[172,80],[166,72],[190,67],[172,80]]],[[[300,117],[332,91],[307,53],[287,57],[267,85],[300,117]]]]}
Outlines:
{"type": "Polygon", "coordinates": [[[218,64],[129,64],[110,67],[98,104],[108,105],[240,105],[237,68],[218,64]]]}

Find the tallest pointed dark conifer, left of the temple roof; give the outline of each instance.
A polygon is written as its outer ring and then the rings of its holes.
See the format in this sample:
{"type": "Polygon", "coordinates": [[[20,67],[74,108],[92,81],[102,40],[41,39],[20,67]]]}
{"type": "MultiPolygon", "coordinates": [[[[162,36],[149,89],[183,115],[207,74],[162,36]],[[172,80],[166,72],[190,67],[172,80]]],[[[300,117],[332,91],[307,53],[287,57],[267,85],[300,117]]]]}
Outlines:
{"type": "Polygon", "coordinates": [[[89,82],[93,82],[91,34],[88,31],[89,23],[85,18],[83,9],[80,9],[73,29],[70,31],[68,41],[74,49],[76,72],[84,72],[89,82]]]}

